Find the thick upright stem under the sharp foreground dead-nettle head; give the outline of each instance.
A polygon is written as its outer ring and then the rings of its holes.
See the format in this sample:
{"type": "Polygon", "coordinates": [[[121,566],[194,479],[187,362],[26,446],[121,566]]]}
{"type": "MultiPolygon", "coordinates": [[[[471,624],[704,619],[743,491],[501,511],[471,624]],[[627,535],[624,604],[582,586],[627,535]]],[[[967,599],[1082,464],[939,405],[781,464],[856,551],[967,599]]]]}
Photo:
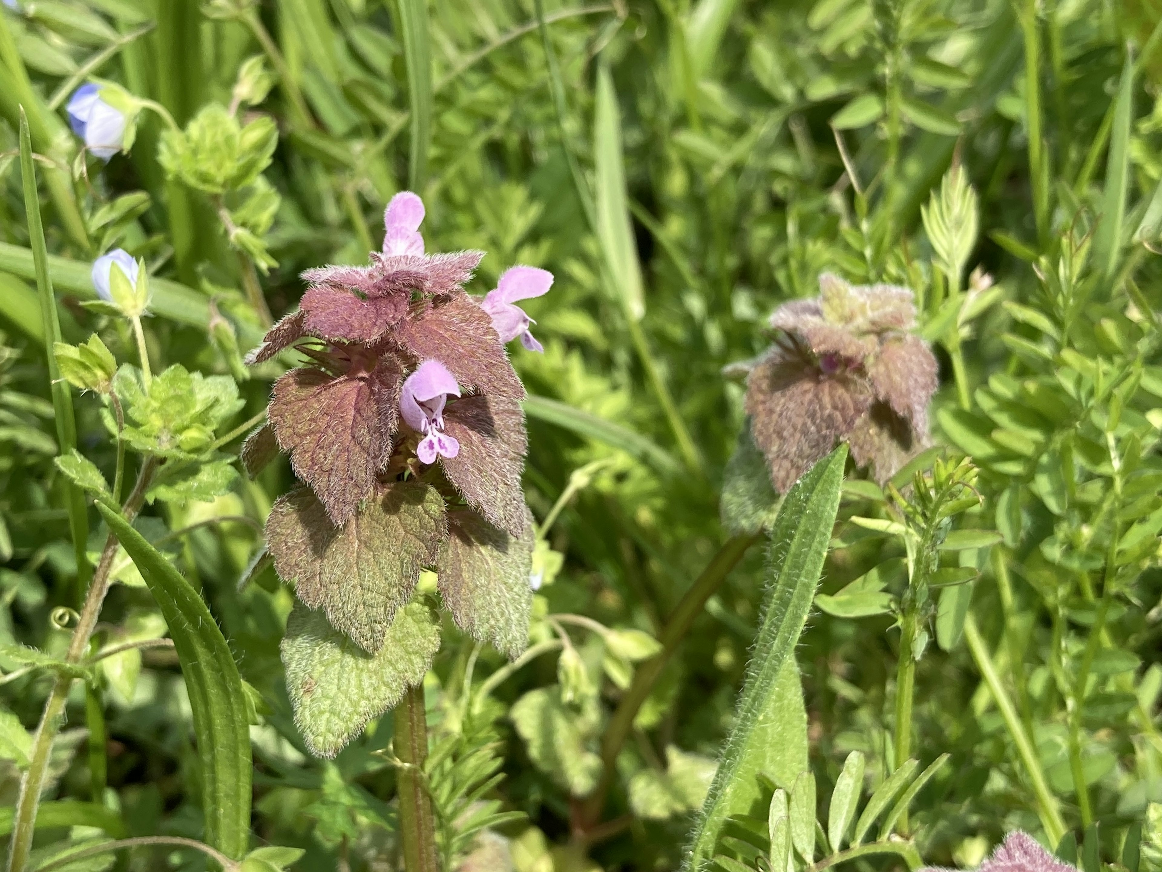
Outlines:
{"type": "Polygon", "coordinates": [[[436,853],[436,816],[424,778],[428,758],[428,713],[424,687],[409,687],[395,707],[395,756],[402,764],[396,775],[400,793],[400,830],[406,872],[439,872],[436,853]]]}

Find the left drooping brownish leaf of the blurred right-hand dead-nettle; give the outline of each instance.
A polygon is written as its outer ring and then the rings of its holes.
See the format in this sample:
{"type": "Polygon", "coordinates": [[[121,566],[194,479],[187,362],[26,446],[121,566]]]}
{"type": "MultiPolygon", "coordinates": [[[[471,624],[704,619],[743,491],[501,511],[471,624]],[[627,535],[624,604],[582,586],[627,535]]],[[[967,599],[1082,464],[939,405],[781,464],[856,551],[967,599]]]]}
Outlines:
{"type": "Polygon", "coordinates": [[[851,433],[871,405],[852,376],[824,376],[808,362],[772,353],[751,371],[746,412],[755,444],[767,456],[779,493],[851,433]]]}

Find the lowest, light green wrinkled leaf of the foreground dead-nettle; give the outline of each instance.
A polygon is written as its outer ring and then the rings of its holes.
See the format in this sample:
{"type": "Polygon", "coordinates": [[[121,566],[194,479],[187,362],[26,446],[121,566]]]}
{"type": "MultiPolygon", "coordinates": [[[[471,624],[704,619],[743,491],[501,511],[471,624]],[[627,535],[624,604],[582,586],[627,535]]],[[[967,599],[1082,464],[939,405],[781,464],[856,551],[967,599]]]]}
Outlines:
{"type": "Polygon", "coordinates": [[[311,753],[333,757],[409,686],[423,681],[439,641],[439,623],[422,602],[395,613],[375,655],[331,627],[322,613],[295,603],[282,639],[282,665],[295,723],[311,753]]]}

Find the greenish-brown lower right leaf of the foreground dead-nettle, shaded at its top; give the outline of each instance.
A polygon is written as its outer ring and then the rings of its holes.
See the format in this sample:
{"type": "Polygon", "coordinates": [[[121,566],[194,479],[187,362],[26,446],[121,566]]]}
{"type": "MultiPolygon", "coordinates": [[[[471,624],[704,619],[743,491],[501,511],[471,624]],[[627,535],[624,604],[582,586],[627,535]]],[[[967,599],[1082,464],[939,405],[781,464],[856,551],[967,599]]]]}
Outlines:
{"type": "Polygon", "coordinates": [[[440,548],[439,592],[457,624],[478,642],[509,658],[529,641],[532,589],[532,519],[517,538],[475,512],[449,513],[449,536],[440,548]]]}

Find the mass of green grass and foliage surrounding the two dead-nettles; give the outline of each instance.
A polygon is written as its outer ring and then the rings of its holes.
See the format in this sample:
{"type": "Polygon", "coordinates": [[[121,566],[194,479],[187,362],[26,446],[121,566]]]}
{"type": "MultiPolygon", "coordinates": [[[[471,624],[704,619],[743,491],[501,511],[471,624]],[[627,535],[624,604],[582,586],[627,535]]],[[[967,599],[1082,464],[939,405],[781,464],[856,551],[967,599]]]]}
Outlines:
{"type": "MultiPolygon", "coordinates": [[[[747,665],[772,655],[753,645],[777,498],[731,364],[832,271],[916,293],[933,450],[883,487],[848,462],[791,641],[808,769],[749,760],[749,807],[700,850],[734,872],[861,846],[865,870],[974,866],[1020,828],[1085,872],[1162,870],[1160,20],[1155,0],[0,7],[0,829],[63,687],[34,864],[163,837],[258,849],[248,872],[395,869],[380,715],[422,681],[449,869],[679,869],[754,727],[747,665]],[[135,127],[108,164],[63,114],[91,77],[135,127]],[[429,250],[488,251],[471,292],[515,263],[555,276],[528,301],[545,353],[511,349],[541,587],[531,607],[465,598],[440,627],[423,573],[372,655],[265,556],[293,474],[251,480],[236,455],[285,362],[242,357],[302,270],[366,263],[406,187],[429,250]],[[95,302],[116,246],[149,273],[137,322],[95,302]],[[93,500],[144,505],[137,534],[108,539],[93,500]],[[113,586],[69,656],[102,549],[113,586]],[[295,660],[309,635],[333,644],[295,660]],[[202,678],[229,712],[199,714],[191,651],[217,658],[202,678]],[[246,738],[249,844],[206,808],[246,793],[246,738]]],[[[492,563],[521,587],[523,565],[492,563]]],[[[116,860],[214,862],[178,843],[116,860]]]]}

